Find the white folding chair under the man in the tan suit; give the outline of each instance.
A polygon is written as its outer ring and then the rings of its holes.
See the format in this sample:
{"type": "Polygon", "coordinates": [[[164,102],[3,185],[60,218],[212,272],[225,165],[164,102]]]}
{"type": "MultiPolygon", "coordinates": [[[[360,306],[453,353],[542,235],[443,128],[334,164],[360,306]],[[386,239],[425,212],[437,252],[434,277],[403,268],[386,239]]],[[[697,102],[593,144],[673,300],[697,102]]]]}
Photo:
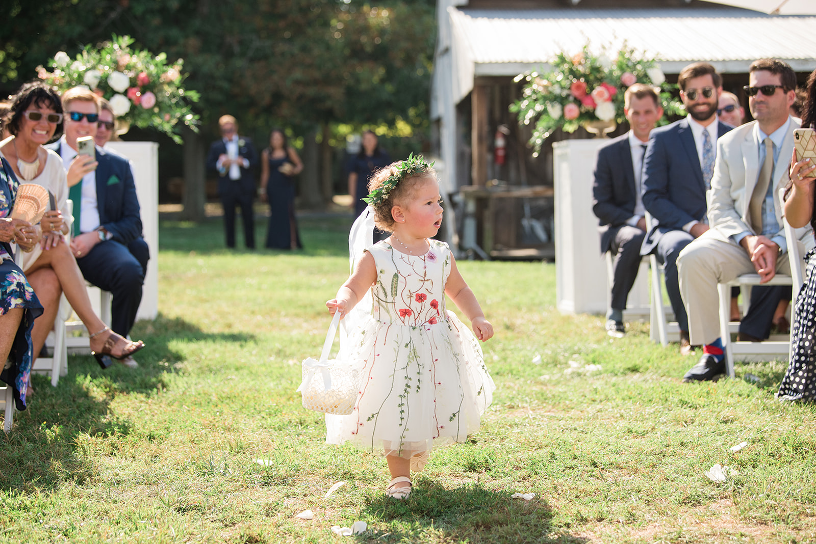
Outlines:
{"type": "Polygon", "coordinates": [[[725,344],[725,362],[728,375],[734,378],[734,357],[739,357],[743,361],[771,361],[776,358],[783,358],[790,355],[790,336],[787,340],[765,340],[762,342],[732,342],[730,327],[730,292],[731,287],[738,285],[743,290],[743,299],[748,300],[745,287],[757,285],[790,285],[792,287],[791,322],[794,318],[796,308],[796,295],[804,278],[802,261],[799,251],[799,241],[793,233],[793,229],[787,224],[787,219],[783,218],[785,228],[785,238],[787,239],[788,260],[791,263],[791,275],[775,274],[769,282],[760,283],[759,274],[743,274],[730,282],[718,283],[717,290],[720,294],[720,335],[725,344]]]}

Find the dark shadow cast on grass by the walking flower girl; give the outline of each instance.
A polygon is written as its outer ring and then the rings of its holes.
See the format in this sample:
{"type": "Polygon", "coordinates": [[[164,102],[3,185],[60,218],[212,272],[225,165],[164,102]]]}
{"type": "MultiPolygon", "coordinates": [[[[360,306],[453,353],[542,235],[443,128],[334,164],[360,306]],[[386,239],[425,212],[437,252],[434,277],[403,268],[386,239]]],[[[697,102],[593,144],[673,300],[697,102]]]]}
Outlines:
{"type": "Polygon", "coordinates": [[[528,502],[511,495],[478,484],[446,489],[420,478],[405,501],[380,495],[363,509],[366,517],[388,522],[388,532],[361,535],[360,542],[372,536],[376,542],[419,542],[428,538],[426,533],[445,542],[588,542],[553,529],[546,500],[528,502]]]}

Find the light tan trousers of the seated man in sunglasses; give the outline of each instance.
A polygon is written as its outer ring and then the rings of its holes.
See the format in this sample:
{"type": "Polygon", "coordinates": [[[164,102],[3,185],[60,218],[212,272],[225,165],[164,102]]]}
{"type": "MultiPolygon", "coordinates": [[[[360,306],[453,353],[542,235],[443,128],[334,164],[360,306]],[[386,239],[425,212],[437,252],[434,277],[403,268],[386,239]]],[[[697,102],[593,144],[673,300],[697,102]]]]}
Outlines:
{"type": "MultiPolygon", "coordinates": [[[[742,246],[725,241],[716,230],[685,246],[677,257],[680,293],[689,314],[691,344],[711,344],[720,337],[720,295],[717,283],[729,282],[756,269],[742,246]]],[[[776,271],[791,274],[787,252],[779,257],[776,271]]]]}

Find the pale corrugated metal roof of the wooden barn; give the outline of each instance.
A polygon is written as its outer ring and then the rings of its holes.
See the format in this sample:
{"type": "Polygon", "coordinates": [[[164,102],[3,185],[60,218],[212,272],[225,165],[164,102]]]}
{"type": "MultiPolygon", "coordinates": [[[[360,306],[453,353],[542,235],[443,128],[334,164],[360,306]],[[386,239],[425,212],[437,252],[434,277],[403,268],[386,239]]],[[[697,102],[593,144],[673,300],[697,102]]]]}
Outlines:
{"type": "MultiPolygon", "coordinates": [[[[451,7],[448,11],[455,36],[460,38],[456,45],[463,46],[466,56],[475,64],[542,64],[558,51],[577,52],[588,38],[592,46],[605,44],[612,50],[617,50],[625,40],[628,46],[670,63],[707,60],[716,65],[774,57],[813,65],[816,57],[816,17],[808,15],[765,15],[728,7],[608,10],[451,7]]],[[[477,68],[479,73],[489,75],[477,68]]]]}

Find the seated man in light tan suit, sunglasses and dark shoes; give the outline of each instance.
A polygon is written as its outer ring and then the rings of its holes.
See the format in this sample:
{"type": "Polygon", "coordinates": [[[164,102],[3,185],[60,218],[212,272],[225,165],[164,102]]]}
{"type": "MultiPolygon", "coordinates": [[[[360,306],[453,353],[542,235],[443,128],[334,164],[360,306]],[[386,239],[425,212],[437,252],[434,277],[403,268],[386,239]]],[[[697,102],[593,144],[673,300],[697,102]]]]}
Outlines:
{"type": "MultiPolygon", "coordinates": [[[[791,270],[778,190],[787,184],[792,131],[799,128],[788,115],[796,99],[796,73],[776,59],[756,60],[748,72],[744,89],[756,121],[717,141],[707,195],[711,229],[677,258],[691,343],[703,344],[703,358],[683,377],[686,382],[725,372],[717,283],[755,272],[765,283],[777,271],[791,270]]],[[[767,317],[770,327],[773,309],[767,317]]]]}

